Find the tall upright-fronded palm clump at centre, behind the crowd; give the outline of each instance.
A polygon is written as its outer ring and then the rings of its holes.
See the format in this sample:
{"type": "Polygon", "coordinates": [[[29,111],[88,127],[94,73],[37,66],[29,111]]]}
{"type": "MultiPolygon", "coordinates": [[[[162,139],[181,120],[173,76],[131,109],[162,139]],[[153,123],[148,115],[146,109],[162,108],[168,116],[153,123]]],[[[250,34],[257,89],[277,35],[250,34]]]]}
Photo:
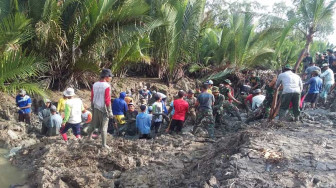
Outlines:
{"type": "Polygon", "coordinates": [[[169,83],[184,75],[184,64],[197,60],[205,1],[152,0],[149,4],[150,15],[163,22],[150,33],[150,53],[160,65],[158,76],[169,83]]]}

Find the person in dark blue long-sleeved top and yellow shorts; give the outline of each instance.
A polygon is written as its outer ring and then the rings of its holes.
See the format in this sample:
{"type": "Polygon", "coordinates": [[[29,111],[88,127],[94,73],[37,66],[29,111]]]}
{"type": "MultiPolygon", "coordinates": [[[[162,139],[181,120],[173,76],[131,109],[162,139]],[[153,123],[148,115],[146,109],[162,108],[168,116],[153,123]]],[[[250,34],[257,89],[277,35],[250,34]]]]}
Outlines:
{"type": "Polygon", "coordinates": [[[125,129],[125,113],[128,110],[127,103],[125,101],[126,93],[121,92],[119,98],[113,100],[112,112],[114,119],[116,120],[115,128],[117,135],[119,134],[119,129],[125,129]]]}

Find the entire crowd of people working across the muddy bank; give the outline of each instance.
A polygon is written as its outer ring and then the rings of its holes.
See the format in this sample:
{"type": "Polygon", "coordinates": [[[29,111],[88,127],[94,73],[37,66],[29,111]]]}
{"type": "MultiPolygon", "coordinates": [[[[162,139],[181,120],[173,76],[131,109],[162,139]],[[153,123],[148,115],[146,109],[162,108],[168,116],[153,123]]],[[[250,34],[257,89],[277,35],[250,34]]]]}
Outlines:
{"type": "MultiPolygon", "coordinates": [[[[102,147],[108,148],[108,133],[151,139],[163,132],[180,134],[188,121],[193,125],[193,134],[206,128],[209,137],[214,138],[216,128],[226,131],[228,122],[224,114],[242,121],[240,109],[245,110],[245,123],[268,117],[277,88],[280,88],[281,96],[279,120],[283,120],[291,109],[293,120],[298,121],[300,111],[308,107],[306,104],[310,103],[311,108],[316,108],[318,101],[325,104],[329,93],[336,87],[336,53],[332,50],[327,52],[326,55],[316,53],[314,60],[307,53],[303,60],[302,74],[294,73],[290,65],[284,66],[282,73],[272,75],[270,80],[261,80],[256,72],[252,72],[248,83],[240,87],[238,95],[235,95],[229,79],[218,83],[218,86],[214,86],[212,80],[207,80],[195,90],[178,91],[168,105],[168,97],[164,93],[146,86],[138,92],[133,89],[121,92],[119,98],[112,101],[110,82],[113,75],[109,69],[103,69],[100,80],[92,86],[92,112],[76,97],[73,88],[67,88],[57,107],[51,100],[44,101],[45,107],[38,113],[42,123],[41,134],[60,134],[67,142],[69,129],[72,129],[79,140],[82,135],[93,139],[100,133],[102,147]],[[262,81],[266,81],[266,84],[262,81]],[[139,104],[135,104],[135,98],[139,100],[139,104]]],[[[20,90],[17,95],[16,104],[19,121],[30,124],[32,102],[24,90],[20,90]]]]}

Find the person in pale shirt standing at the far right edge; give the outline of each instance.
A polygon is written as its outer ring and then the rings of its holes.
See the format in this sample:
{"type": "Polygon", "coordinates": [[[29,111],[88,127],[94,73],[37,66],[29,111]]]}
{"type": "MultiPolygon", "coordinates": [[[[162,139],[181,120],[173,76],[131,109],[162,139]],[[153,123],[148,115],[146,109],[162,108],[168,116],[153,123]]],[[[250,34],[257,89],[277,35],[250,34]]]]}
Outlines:
{"type": "Polygon", "coordinates": [[[334,72],[329,68],[327,63],[323,64],[322,70],[323,73],[320,75],[320,77],[323,79],[323,91],[320,97],[325,104],[327,102],[328,93],[331,91],[331,87],[335,83],[335,77],[334,72]]]}

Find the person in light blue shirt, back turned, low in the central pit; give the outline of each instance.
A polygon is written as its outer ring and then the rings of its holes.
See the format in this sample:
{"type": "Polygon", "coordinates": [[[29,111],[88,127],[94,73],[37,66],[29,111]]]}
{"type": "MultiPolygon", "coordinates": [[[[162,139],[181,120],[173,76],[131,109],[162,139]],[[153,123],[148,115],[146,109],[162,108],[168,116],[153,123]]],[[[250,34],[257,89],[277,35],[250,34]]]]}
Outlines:
{"type": "Polygon", "coordinates": [[[141,113],[136,116],[136,127],[140,132],[139,139],[151,139],[150,130],[152,118],[149,114],[146,113],[146,108],[147,107],[145,105],[141,105],[141,113]]]}

